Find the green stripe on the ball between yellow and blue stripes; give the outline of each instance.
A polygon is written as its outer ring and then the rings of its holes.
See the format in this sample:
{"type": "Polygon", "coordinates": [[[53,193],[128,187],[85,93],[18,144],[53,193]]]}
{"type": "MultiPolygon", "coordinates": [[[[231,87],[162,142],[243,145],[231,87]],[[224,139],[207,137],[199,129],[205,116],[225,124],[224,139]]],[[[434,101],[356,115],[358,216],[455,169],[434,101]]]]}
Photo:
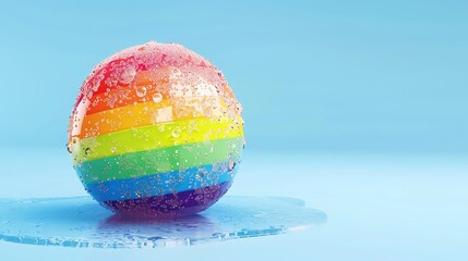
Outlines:
{"type": "Polygon", "coordinates": [[[76,172],[86,184],[131,178],[237,161],[242,147],[243,137],[187,144],[86,161],[76,165],[76,172]]]}

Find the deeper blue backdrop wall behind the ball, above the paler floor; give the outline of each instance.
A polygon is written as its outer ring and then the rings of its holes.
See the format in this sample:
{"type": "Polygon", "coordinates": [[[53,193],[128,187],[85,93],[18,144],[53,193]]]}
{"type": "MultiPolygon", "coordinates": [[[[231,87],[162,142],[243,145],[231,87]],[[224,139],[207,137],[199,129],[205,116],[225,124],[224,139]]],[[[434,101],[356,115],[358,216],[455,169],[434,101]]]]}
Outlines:
{"type": "Polygon", "coordinates": [[[467,1],[1,1],[0,144],[63,148],[108,55],[179,42],[224,71],[250,149],[468,150],[467,1]]]}

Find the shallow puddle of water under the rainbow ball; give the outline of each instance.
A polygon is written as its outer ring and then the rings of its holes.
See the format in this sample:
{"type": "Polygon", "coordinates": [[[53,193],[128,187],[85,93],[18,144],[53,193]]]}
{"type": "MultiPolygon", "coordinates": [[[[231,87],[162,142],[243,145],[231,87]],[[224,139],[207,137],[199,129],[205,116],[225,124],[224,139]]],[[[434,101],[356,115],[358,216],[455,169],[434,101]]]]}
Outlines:
{"type": "Polygon", "coordinates": [[[0,239],[94,248],[154,248],[278,235],[326,221],[300,199],[225,197],[201,214],[148,220],[112,214],[89,197],[0,199],[0,239]]]}

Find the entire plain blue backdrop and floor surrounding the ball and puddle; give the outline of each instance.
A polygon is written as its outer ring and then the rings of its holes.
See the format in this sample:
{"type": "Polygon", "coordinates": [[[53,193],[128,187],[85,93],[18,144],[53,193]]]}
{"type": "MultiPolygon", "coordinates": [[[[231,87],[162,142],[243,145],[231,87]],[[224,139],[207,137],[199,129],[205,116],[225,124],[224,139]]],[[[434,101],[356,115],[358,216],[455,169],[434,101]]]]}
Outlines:
{"type": "Polygon", "coordinates": [[[468,260],[466,0],[0,0],[0,198],[86,195],[64,146],[79,88],[149,40],[212,60],[242,102],[228,194],[327,222],[145,251],[0,243],[2,260],[468,260]]]}

